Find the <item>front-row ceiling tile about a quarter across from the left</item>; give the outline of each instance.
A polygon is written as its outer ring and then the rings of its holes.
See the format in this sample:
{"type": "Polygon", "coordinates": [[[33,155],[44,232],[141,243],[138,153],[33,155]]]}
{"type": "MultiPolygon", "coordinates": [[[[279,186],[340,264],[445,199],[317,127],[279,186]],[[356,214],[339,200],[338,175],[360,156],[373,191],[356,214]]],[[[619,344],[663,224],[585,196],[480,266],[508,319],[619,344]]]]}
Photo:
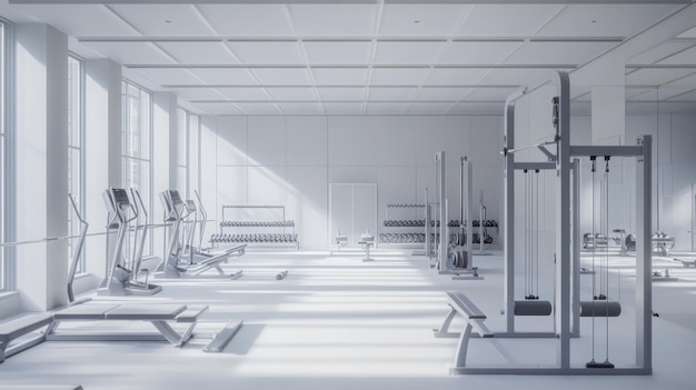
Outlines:
{"type": "Polygon", "coordinates": [[[150,37],[211,37],[216,32],[196,7],[188,4],[111,4],[143,36],[150,37]]]}

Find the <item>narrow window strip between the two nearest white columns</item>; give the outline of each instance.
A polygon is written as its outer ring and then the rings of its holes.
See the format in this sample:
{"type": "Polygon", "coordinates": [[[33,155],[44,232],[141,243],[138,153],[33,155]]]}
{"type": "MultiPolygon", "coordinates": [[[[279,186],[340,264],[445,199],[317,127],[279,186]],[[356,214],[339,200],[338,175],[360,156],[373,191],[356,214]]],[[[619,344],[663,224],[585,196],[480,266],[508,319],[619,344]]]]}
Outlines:
{"type": "MultiPolygon", "coordinates": [[[[82,61],[68,57],[68,189],[78,201],[80,212],[84,213],[84,77],[82,61]]],[[[80,233],[80,223],[74,217],[72,206],[68,204],[68,231],[71,236],[80,233]]],[[[68,253],[72,259],[72,243],[68,241],[68,253]]],[[[84,270],[84,252],[78,264],[78,272],[84,270]]]]}

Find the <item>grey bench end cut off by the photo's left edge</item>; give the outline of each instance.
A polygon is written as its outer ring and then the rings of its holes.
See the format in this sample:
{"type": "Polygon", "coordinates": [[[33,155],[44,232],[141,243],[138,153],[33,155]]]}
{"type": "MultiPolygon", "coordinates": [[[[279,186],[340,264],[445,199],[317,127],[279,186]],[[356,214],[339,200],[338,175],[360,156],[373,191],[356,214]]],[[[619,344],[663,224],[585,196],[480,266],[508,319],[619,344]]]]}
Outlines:
{"type": "Polygon", "coordinates": [[[0,363],[4,358],[19,353],[36,344],[43,342],[43,334],[33,337],[19,344],[10,346],[12,340],[29,334],[43,327],[48,327],[53,322],[51,313],[29,313],[23,314],[0,324],[0,363]]]}

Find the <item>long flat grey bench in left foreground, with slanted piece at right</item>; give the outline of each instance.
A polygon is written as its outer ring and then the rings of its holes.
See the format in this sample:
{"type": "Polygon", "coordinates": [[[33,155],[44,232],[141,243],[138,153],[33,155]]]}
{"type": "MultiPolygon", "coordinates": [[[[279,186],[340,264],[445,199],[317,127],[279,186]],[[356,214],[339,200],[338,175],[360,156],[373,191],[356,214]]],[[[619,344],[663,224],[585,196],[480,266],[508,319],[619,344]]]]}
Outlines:
{"type": "MultiPolygon", "coordinates": [[[[95,303],[78,304],[53,313],[53,321],[46,332],[47,341],[168,341],[175,347],[182,347],[192,338],[198,318],[208,311],[208,306],[188,308],[186,304],[117,304],[95,303]],[[70,321],[149,321],[159,331],[136,332],[58,332],[62,322],[70,321]],[[180,332],[171,323],[188,323],[180,332]]],[[[231,321],[215,334],[212,341],[203,348],[206,352],[219,352],[241,328],[241,321],[231,321]],[[220,347],[221,346],[221,347],[220,347]]]]}

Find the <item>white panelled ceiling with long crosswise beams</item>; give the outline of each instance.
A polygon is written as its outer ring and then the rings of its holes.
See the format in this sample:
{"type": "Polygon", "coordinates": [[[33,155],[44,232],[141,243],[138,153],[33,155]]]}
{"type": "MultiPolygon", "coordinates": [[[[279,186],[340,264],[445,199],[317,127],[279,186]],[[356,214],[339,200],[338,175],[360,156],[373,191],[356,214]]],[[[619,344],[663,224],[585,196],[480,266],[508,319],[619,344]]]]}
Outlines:
{"type": "MultiPolygon", "coordinates": [[[[76,37],[71,50],[200,113],[453,114],[500,113],[519,86],[574,71],[689,1],[127,2],[0,0],[0,14],[53,24],[76,37]]],[[[695,64],[693,31],[634,64],[695,64]]],[[[633,68],[627,81],[696,72],[668,70],[633,68]]]]}

